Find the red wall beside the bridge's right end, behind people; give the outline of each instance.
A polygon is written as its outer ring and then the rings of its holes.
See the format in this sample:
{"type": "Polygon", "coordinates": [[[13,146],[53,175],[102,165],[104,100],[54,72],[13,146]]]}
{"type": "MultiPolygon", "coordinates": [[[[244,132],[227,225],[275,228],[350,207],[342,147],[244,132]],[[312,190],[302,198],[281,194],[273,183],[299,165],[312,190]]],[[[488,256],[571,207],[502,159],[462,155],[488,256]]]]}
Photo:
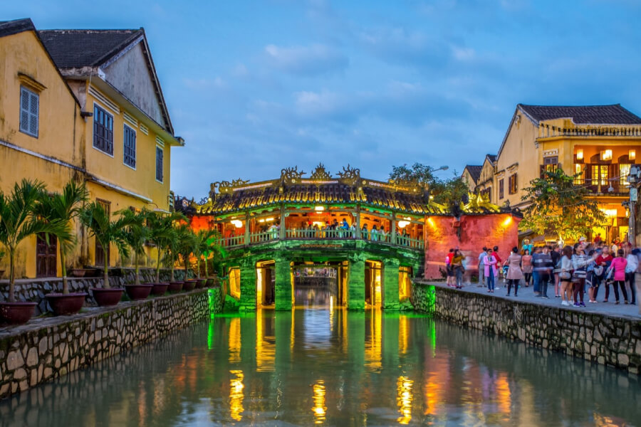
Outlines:
{"type": "Polygon", "coordinates": [[[425,227],[425,273],[426,279],[440,279],[439,268],[445,269],[445,257],[449,248],[459,248],[471,256],[468,270],[476,274],[478,257],[483,246],[499,246],[499,256],[505,260],[514,246],[518,246],[518,223],[521,218],[511,214],[489,214],[461,217],[431,216],[425,227]],[[457,233],[460,227],[460,238],[457,233]]]}

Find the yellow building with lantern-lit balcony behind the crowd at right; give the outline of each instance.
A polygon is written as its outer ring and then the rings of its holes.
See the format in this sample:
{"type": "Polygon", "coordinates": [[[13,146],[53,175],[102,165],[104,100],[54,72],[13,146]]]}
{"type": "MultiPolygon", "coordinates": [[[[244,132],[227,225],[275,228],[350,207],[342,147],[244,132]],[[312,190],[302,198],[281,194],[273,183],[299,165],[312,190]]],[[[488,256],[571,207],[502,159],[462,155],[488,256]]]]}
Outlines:
{"type": "MultiPolygon", "coordinates": [[[[595,228],[605,241],[627,237],[627,174],[641,149],[641,117],[621,105],[575,107],[518,104],[494,161],[491,201],[524,208],[523,189],[543,172],[578,174],[608,216],[595,228]]],[[[485,168],[485,165],[484,165],[485,168]]],[[[483,181],[483,177],[479,180],[483,181]]],[[[489,186],[477,186],[487,191],[489,186]]]]}

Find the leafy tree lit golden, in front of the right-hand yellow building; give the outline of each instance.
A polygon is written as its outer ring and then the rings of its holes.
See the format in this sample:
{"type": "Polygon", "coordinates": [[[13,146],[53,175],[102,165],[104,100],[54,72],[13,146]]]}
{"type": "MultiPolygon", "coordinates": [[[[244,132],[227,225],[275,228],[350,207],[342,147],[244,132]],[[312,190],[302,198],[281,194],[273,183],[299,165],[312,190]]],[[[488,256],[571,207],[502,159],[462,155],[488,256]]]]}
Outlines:
{"type": "Polygon", "coordinates": [[[577,176],[567,175],[559,168],[530,181],[521,199],[531,204],[523,211],[519,227],[572,241],[602,225],[605,214],[595,199],[588,199],[588,189],[574,184],[577,176]]]}

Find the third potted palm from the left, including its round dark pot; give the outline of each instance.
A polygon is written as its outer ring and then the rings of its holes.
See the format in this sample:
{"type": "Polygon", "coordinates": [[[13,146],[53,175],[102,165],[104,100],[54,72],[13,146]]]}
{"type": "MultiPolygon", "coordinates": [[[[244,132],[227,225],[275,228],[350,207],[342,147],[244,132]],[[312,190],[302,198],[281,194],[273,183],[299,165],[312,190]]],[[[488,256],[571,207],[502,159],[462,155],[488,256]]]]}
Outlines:
{"type": "MultiPolygon", "coordinates": [[[[105,208],[94,201],[80,212],[80,222],[89,229],[90,236],[94,236],[100,242],[100,246],[109,248],[113,243],[120,255],[124,257],[129,255],[129,248],[123,237],[123,228],[127,223],[122,217],[112,221],[105,208]]],[[[91,288],[91,293],[100,306],[116,305],[123,296],[124,289],[111,288],[109,285],[109,260],[105,260],[103,274],[103,288],[91,288]]]]}

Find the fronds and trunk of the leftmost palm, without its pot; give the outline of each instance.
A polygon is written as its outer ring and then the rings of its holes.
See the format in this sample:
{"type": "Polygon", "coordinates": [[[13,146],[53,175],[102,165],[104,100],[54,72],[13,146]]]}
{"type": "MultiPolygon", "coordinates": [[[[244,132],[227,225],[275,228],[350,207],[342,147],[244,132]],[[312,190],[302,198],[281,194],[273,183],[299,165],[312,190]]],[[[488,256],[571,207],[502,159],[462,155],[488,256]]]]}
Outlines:
{"type": "Polygon", "coordinates": [[[36,215],[44,189],[41,182],[23,179],[16,182],[10,195],[0,191],[0,243],[9,252],[9,302],[16,300],[16,249],[20,242],[38,233],[68,237],[63,221],[44,221],[36,215]]]}

